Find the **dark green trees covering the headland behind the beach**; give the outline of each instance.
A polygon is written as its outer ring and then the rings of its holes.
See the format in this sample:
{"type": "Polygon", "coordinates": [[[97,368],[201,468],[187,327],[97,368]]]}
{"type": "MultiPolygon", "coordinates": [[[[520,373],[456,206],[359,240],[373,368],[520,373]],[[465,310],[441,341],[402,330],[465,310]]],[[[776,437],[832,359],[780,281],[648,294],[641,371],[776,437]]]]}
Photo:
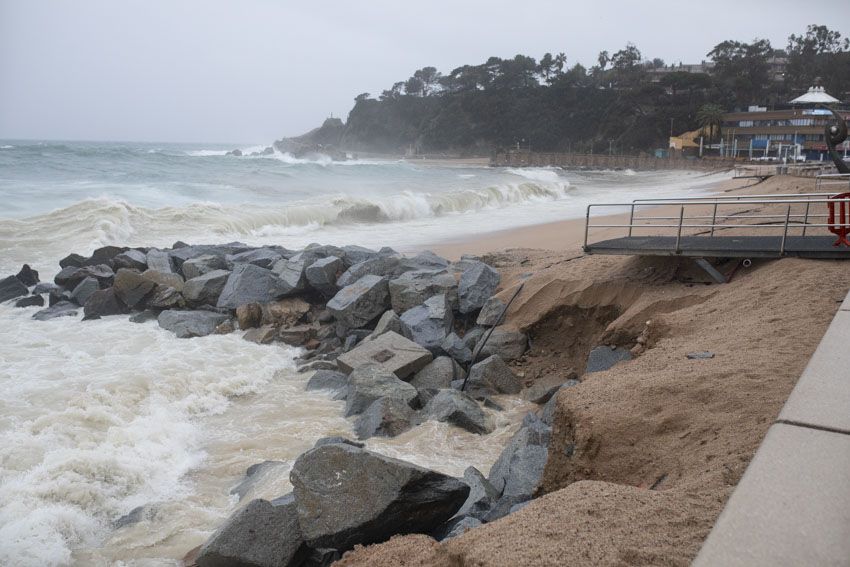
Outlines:
{"type": "Polygon", "coordinates": [[[791,35],[785,49],[729,40],[707,57],[704,72],[689,72],[627,44],[601,52],[590,69],[569,66],[564,53],[491,57],[445,75],[423,67],[377,98],[357,96],[339,143],[389,152],[635,153],[666,147],[671,131],[703,127],[713,139],[723,112],[784,104],[818,77],[850,98],[850,42],[826,26],[791,35]]]}

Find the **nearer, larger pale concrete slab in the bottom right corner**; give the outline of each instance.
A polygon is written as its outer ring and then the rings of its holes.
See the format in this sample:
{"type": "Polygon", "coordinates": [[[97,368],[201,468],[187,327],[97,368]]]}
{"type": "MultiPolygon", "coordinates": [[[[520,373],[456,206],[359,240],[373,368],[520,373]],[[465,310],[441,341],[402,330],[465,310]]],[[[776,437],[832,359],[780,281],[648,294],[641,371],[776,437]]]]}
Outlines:
{"type": "Polygon", "coordinates": [[[775,424],[694,567],[847,565],[850,435],[775,424]]]}

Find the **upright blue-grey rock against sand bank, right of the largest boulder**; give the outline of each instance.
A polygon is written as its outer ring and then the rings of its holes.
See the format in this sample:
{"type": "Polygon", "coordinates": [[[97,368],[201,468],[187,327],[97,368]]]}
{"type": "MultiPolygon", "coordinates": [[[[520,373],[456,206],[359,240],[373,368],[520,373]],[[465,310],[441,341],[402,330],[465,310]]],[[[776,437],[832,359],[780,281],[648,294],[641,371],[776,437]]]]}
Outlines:
{"type": "Polygon", "coordinates": [[[532,413],[490,469],[488,480],[499,491],[499,501],[487,515],[492,522],[510,512],[515,504],[531,500],[549,458],[551,428],[532,413]]]}

